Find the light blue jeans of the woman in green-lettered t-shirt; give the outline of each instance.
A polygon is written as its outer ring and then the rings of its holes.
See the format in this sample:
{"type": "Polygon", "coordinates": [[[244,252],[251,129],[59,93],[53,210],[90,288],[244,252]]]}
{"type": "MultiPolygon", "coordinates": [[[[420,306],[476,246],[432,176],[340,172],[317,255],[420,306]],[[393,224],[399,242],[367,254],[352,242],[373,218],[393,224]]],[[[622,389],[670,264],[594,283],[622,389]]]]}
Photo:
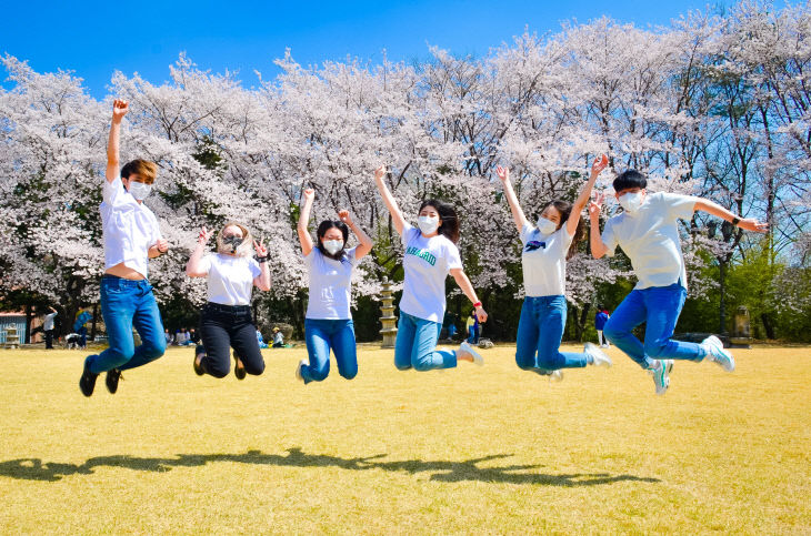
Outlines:
{"type": "Polygon", "coordinates": [[[430,371],[457,366],[457,353],[437,351],[442,324],[400,311],[394,343],[394,366],[400,371],[430,371]]]}

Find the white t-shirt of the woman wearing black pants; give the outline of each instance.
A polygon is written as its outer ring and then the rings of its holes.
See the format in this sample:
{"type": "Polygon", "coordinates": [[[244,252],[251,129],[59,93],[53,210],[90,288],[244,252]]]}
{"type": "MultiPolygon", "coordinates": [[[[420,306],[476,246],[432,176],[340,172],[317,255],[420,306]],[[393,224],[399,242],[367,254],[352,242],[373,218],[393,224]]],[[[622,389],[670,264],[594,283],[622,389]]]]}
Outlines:
{"type": "Polygon", "coordinates": [[[209,302],[222,305],[250,305],[253,280],[262,273],[254,259],[222,253],[203,256],[200,271],[209,274],[209,302]]]}

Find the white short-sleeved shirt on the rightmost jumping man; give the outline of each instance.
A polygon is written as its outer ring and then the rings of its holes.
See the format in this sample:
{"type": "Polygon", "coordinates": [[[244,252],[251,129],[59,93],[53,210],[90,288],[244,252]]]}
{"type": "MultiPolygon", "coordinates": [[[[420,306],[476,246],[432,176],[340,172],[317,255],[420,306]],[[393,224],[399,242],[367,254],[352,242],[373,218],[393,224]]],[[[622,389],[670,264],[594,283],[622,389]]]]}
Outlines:
{"type": "Polygon", "coordinates": [[[631,259],[639,282],[634,289],[669,286],[681,281],[687,289],[687,270],[681,254],[677,220],[692,216],[699,198],[678,193],[645,194],[635,214],[623,212],[609,219],[602,242],[613,256],[617,246],[631,259]]]}

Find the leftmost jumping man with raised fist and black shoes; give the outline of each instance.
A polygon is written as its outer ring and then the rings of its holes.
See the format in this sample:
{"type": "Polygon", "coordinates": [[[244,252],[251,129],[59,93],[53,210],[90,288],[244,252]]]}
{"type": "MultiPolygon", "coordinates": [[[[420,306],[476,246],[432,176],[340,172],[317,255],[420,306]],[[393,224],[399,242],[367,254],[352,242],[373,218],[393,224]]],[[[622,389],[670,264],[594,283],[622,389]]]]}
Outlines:
{"type": "Polygon", "coordinates": [[[116,393],[121,371],[146,365],[166,351],[163,323],[147,272],[149,260],[166,253],[169,242],[161,236],[158,219],[142,203],[152,189],[158,166],[154,162],[133,160],[119,168],[119,133],[128,110],[127,101],[113,101],[100,206],[104,275],[99,287],[110,346],[84,360],[79,380],[84,396],[93,394],[102,372],[107,372],[107,388],[116,393]],[[132,327],[141,337],[138,347],[132,327]]]}

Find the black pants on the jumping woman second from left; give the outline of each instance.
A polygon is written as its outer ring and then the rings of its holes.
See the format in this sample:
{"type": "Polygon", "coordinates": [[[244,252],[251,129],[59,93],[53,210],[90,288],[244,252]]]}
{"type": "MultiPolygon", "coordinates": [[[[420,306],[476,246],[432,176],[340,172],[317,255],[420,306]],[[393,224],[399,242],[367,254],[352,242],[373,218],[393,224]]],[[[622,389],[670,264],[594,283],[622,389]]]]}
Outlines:
{"type": "Polygon", "coordinates": [[[264,360],[259,351],[250,306],[207,303],[200,317],[200,337],[206,348],[206,356],[201,361],[206,373],[226,377],[231,370],[231,347],[248,374],[264,372],[264,360]]]}

